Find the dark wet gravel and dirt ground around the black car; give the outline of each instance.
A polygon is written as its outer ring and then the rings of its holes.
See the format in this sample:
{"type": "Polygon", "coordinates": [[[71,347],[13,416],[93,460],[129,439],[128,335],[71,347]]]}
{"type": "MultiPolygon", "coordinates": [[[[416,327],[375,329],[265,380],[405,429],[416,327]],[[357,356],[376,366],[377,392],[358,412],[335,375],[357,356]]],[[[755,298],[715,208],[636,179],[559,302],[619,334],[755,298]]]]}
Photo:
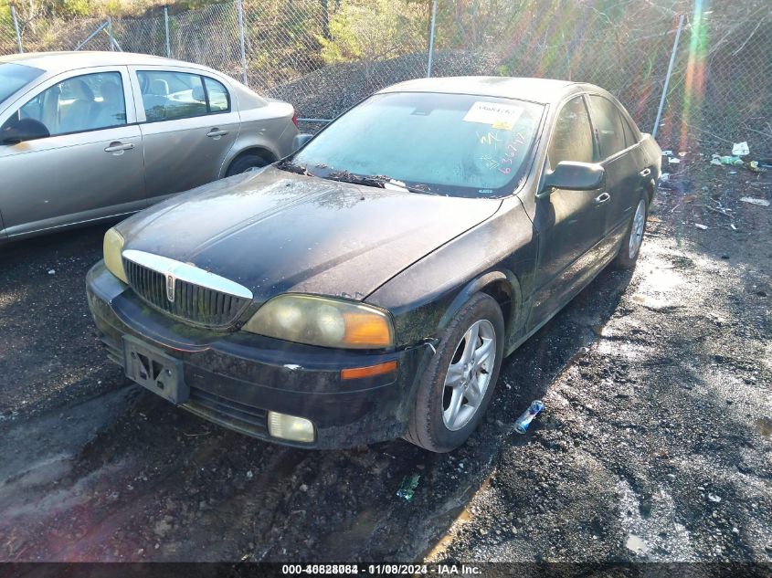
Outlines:
{"type": "Polygon", "coordinates": [[[515,352],[451,455],[209,425],[100,351],[83,278],[106,227],[0,249],[0,560],[768,562],[772,208],[739,199],[772,178],[692,156],[638,268],[515,352]]]}

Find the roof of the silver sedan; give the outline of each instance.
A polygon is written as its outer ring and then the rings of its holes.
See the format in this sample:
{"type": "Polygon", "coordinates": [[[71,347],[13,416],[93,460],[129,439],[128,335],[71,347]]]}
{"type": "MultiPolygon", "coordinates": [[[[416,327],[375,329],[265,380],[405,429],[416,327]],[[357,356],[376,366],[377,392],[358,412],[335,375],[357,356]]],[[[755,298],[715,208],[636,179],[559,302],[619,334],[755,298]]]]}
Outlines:
{"type": "Polygon", "coordinates": [[[182,60],[154,57],[149,54],[133,54],[132,52],[30,52],[0,57],[0,63],[3,62],[24,64],[46,70],[47,72],[65,72],[75,68],[86,67],[132,65],[206,68],[189,62],[183,62],[182,60]]]}

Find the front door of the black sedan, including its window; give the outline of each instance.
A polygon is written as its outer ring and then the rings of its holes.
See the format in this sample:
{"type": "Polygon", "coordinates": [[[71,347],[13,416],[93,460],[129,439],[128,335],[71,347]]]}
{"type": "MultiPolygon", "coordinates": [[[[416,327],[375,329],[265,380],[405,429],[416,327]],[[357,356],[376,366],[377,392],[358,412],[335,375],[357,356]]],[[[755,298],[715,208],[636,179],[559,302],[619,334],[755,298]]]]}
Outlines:
{"type": "MultiPolygon", "coordinates": [[[[568,100],[560,110],[547,154],[545,170],[561,161],[593,163],[597,160],[587,105],[581,95],[568,100]]],[[[603,238],[607,212],[605,188],[553,189],[537,197],[534,227],[539,239],[539,256],[530,328],[547,321],[586,282],[584,273],[594,265],[592,249],[603,238]]]]}

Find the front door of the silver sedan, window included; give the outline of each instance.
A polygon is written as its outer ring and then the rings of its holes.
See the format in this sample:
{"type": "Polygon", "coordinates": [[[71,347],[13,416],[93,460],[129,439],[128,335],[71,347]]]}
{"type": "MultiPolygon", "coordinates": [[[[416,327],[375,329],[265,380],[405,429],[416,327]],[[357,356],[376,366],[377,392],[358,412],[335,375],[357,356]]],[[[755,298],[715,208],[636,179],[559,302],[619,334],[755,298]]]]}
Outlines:
{"type": "Polygon", "coordinates": [[[0,117],[0,131],[42,123],[48,136],[0,144],[7,235],[141,209],[143,146],[135,117],[125,67],[81,68],[17,97],[0,117]]]}

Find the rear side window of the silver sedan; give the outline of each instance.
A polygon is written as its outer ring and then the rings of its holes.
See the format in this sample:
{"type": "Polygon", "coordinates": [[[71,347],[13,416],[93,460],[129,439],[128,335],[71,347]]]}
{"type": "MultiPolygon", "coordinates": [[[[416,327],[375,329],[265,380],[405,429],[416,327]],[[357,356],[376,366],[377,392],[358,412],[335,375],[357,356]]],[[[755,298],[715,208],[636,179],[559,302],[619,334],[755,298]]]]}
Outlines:
{"type": "Polygon", "coordinates": [[[217,80],[161,70],[139,70],[137,79],[148,122],[188,119],[230,110],[227,89],[217,80]]]}

